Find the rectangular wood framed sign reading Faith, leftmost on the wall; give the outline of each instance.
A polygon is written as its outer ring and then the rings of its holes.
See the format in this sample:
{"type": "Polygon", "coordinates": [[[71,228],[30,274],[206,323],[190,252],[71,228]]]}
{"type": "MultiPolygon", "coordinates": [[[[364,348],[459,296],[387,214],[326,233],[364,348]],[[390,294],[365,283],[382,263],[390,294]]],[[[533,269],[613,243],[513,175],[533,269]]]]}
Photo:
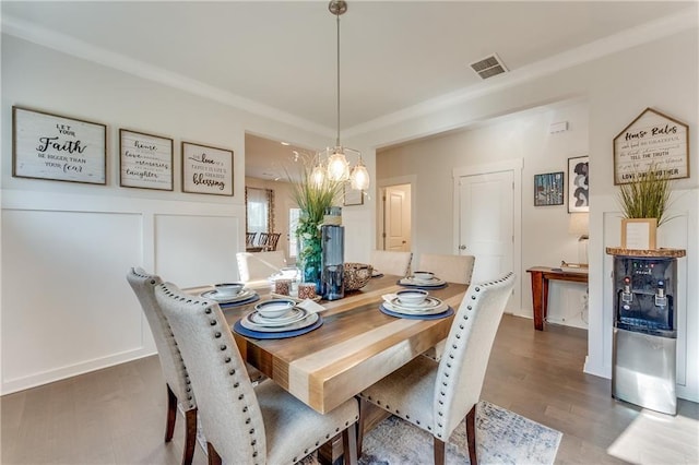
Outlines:
{"type": "Polygon", "coordinates": [[[106,184],[105,124],[12,107],[12,176],[106,184]]]}

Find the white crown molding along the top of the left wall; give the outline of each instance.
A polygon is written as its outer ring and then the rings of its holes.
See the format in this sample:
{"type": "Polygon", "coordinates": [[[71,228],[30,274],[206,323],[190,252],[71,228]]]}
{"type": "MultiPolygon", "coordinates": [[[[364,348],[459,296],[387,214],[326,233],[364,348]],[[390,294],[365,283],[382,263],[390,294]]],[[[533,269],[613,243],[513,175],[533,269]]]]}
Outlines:
{"type": "Polygon", "coordinates": [[[2,15],[2,33],[323,136],[334,136],[335,134],[335,131],[331,128],[320,126],[269,105],[260,104],[191,78],[115,53],[8,14],[2,15]]]}

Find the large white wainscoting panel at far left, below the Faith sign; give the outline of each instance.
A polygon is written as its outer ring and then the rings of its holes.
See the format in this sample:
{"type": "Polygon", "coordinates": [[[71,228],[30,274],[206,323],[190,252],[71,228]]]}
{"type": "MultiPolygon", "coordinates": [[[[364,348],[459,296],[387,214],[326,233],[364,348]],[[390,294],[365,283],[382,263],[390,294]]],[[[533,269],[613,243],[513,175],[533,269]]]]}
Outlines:
{"type": "Polygon", "coordinates": [[[2,212],[4,392],[138,356],[142,250],[140,214],[2,212]]]}

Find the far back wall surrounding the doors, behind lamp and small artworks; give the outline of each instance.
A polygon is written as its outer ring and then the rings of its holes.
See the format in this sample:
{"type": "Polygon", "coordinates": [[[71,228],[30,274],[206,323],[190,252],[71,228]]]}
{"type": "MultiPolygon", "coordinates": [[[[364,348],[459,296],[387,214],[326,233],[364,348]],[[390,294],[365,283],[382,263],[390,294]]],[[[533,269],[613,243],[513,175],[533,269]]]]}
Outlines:
{"type": "MultiPolygon", "coordinates": [[[[454,168],[524,159],[521,196],[521,267],[513,298],[514,313],[532,318],[531,283],[526,269],[557,266],[561,260],[578,262],[578,238],[568,234],[567,205],[534,206],[534,175],[567,171],[568,158],[588,155],[588,105],[568,102],[522,111],[487,124],[381,150],[377,155],[377,178],[413,175],[415,196],[415,260],[422,253],[458,253],[454,250],[453,184],[445,182],[454,168]],[[549,133],[554,122],[567,121],[569,130],[549,133]],[[439,207],[435,207],[439,205],[439,207]],[[448,227],[445,227],[447,225],[448,227]],[[521,297],[520,297],[521,296],[521,297]],[[522,303],[519,305],[520,298],[522,303]]],[[[476,263],[477,266],[477,263],[476,263]]],[[[549,318],[587,327],[580,302],[585,287],[553,282],[549,318]],[[573,305],[574,302],[574,305],[573,305]]]]}

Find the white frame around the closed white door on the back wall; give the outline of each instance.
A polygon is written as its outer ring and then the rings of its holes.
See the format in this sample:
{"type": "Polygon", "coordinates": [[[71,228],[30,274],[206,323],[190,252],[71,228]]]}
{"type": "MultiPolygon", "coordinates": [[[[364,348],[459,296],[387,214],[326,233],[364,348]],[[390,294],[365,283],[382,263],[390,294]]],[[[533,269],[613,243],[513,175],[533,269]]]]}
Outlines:
{"type": "MultiPolygon", "coordinates": [[[[512,171],[512,181],[514,182],[512,194],[512,271],[518,275],[519,291],[514,293],[511,300],[512,308],[518,313],[522,313],[522,293],[524,290],[524,271],[522,270],[522,169],[524,168],[524,158],[512,158],[503,162],[488,163],[483,165],[471,165],[453,168],[453,250],[459,251],[460,246],[460,189],[459,182],[464,176],[488,175],[491,172],[512,171]]],[[[529,288],[528,288],[529,289],[529,288]]]]}

